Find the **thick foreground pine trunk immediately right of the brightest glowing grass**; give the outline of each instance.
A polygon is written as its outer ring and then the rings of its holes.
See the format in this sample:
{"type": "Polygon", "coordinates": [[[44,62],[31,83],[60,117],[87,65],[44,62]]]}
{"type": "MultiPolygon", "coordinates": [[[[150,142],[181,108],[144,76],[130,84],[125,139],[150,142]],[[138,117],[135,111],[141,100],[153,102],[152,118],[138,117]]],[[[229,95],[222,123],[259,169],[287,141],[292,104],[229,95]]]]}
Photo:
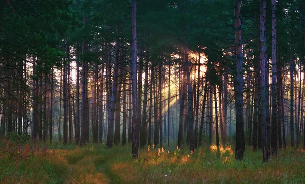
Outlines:
{"type": "Polygon", "coordinates": [[[240,20],[240,0],[235,5],[235,39],[236,39],[236,92],[235,92],[235,110],[236,110],[236,149],[235,159],[243,159],[245,152],[245,138],[243,132],[243,55],[242,55],[242,36],[240,20]]]}

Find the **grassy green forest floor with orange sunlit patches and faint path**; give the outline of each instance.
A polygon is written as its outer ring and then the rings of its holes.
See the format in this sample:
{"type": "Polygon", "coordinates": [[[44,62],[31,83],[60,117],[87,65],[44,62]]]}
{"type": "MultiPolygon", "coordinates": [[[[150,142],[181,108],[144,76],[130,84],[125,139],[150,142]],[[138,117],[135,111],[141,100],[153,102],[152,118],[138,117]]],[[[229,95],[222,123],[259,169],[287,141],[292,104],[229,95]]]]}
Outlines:
{"type": "Polygon", "coordinates": [[[17,145],[0,139],[0,183],[303,183],[305,153],[279,149],[268,163],[262,151],[248,148],[245,159],[234,159],[230,146],[139,149],[88,144],[79,148],[59,142],[17,145]]]}

